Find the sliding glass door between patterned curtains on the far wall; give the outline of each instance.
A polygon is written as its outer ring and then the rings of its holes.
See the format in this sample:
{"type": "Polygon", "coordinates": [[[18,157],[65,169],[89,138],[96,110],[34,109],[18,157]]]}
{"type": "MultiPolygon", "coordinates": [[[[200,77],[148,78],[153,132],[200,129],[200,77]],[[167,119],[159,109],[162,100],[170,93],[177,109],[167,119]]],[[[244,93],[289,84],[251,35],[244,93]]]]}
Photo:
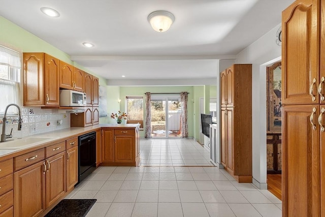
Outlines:
{"type": "Polygon", "coordinates": [[[181,102],[179,98],[151,99],[151,137],[180,138],[181,102]]]}

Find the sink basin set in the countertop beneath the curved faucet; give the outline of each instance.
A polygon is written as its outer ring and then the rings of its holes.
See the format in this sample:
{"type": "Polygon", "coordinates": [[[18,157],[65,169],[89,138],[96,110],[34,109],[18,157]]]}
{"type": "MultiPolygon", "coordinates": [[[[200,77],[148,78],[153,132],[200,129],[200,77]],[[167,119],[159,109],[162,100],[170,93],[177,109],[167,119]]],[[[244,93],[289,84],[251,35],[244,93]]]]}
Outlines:
{"type": "Polygon", "coordinates": [[[21,149],[27,148],[34,145],[42,144],[45,142],[49,142],[53,139],[53,137],[26,137],[22,139],[7,139],[6,142],[0,143],[0,149],[21,149]]]}

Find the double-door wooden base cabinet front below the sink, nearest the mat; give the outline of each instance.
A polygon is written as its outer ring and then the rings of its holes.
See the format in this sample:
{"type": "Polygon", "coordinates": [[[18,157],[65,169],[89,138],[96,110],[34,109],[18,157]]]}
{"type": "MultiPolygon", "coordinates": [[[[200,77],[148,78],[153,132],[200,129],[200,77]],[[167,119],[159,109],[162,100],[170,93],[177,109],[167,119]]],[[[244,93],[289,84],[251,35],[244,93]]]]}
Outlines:
{"type": "Polygon", "coordinates": [[[66,192],[66,152],[14,172],[15,216],[39,216],[66,192]]]}

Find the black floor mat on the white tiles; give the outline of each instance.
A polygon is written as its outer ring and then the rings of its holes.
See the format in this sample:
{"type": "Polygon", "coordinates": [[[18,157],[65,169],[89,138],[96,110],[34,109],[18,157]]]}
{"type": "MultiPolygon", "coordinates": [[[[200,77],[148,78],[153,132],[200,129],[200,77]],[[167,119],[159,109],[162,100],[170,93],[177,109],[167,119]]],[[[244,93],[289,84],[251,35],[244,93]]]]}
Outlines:
{"type": "Polygon", "coordinates": [[[61,200],[45,217],[84,217],[96,199],[64,199],[61,200]]]}

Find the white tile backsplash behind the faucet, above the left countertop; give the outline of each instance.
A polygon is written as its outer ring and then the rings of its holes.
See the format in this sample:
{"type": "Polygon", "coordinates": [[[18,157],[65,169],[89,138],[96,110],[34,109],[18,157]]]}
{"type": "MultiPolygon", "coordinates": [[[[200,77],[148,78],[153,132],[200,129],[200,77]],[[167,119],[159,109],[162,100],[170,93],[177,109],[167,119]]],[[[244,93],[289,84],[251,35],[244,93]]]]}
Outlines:
{"type": "MultiPolygon", "coordinates": [[[[70,128],[70,114],[59,113],[58,109],[21,107],[21,131],[17,131],[18,117],[18,115],[12,115],[7,117],[8,120],[6,123],[6,134],[10,134],[11,129],[13,129],[13,138],[21,138],[29,135],[70,128]]],[[[0,118],[2,120],[3,116],[0,115],[0,118]]],[[[0,124],[1,132],[2,125],[3,123],[0,124]]]]}

